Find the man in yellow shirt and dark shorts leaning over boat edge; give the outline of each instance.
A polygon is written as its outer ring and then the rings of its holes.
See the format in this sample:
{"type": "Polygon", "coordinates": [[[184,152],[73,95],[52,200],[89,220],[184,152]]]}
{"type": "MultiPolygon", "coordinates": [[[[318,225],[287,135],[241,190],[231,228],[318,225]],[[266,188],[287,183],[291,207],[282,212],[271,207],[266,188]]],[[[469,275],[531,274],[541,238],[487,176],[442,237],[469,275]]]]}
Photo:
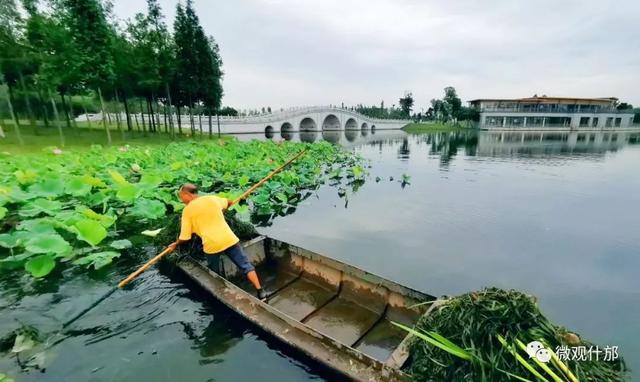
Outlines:
{"type": "Polygon", "coordinates": [[[198,187],[191,183],[182,185],[178,196],[187,206],[182,210],[180,236],[170,247],[175,250],[178,245],[191,240],[191,235],[198,235],[202,239],[202,248],[209,268],[220,273],[218,255],[229,256],[256,288],[258,298],[264,301],[267,294],[260,286],[258,274],[242,251],[240,240],[224,220],[222,211],[229,207],[231,201],[213,195],[199,196],[198,187]]]}

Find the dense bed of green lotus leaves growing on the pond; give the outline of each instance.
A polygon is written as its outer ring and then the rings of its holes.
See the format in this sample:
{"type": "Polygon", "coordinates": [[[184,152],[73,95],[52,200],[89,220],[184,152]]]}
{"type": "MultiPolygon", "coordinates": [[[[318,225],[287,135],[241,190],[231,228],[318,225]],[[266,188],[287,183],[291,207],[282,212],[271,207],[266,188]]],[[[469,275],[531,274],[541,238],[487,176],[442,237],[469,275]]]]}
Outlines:
{"type": "Polygon", "coordinates": [[[163,230],[166,245],[177,236],[184,207],[176,196],[180,185],[234,199],[303,149],[302,157],[230,209],[227,218],[245,238],[255,235],[248,221],[269,224],[289,213],[329,174],[363,181],[364,160],[329,143],[236,140],[0,153],[0,273],[40,278],[74,266],[102,268],[156,245],[144,235],[163,230]]]}

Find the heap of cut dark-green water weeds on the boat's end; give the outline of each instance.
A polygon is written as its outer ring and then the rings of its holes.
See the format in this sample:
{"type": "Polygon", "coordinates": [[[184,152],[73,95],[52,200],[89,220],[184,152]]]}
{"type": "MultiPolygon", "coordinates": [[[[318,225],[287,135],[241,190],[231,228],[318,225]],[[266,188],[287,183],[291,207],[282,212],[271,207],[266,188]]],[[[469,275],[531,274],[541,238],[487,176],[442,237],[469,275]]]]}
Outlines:
{"type": "Polygon", "coordinates": [[[551,323],[534,298],[514,290],[438,300],[414,328],[396,325],[413,334],[405,369],[415,381],[630,379],[617,349],[551,323]]]}

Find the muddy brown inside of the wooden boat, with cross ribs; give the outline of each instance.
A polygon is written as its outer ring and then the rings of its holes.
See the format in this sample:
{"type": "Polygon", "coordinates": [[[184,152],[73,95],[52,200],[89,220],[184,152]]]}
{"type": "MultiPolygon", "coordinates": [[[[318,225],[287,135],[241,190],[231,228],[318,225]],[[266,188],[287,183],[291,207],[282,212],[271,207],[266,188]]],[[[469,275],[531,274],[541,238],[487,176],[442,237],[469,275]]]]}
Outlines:
{"type": "MultiPolygon", "coordinates": [[[[350,265],[267,237],[244,250],[278,312],[390,366],[407,333],[391,322],[413,326],[433,296],[406,288],[350,265]]],[[[221,256],[224,277],[244,291],[255,289],[221,256]]],[[[398,361],[396,360],[395,363],[398,361]]]]}

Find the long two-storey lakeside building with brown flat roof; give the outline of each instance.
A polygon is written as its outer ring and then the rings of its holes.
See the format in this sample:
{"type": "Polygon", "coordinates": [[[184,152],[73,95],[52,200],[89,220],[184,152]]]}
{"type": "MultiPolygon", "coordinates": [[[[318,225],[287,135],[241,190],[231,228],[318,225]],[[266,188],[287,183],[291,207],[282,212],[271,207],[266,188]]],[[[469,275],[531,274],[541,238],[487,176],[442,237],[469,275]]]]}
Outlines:
{"type": "Polygon", "coordinates": [[[633,126],[632,110],[617,110],[618,99],[530,97],[469,101],[480,112],[479,128],[605,130],[633,126]]]}

